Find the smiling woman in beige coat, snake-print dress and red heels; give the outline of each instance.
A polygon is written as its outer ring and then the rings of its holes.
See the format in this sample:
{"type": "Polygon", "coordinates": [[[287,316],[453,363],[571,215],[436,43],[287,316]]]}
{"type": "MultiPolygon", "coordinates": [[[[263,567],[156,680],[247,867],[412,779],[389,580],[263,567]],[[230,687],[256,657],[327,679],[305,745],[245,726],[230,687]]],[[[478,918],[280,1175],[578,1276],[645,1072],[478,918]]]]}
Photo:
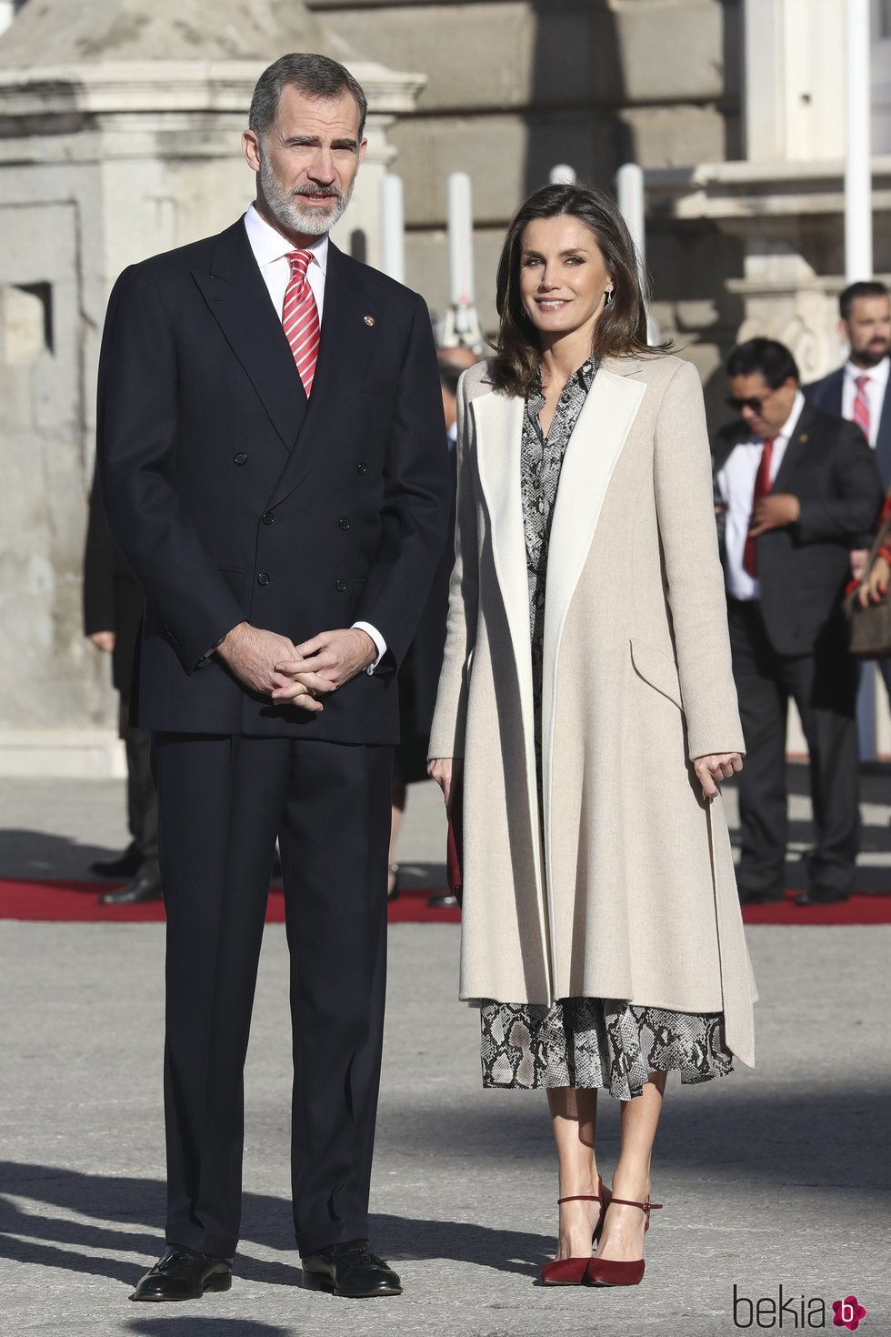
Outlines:
{"type": "Polygon", "coordinates": [[[484,1084],[548,1090],[560,1237],[542,1280],[633,1285],[668,1071],[753,1062],[703,394],[647,345],[633,243],[598,191],[546,186],[520,209],[498,312],[496,357],[460,390],[429,770],[446,804],[462,794],[461,996],[480,1004],[484,1084]],[[601,1087],[622,1102],[612,1195],[601,1087]]]}

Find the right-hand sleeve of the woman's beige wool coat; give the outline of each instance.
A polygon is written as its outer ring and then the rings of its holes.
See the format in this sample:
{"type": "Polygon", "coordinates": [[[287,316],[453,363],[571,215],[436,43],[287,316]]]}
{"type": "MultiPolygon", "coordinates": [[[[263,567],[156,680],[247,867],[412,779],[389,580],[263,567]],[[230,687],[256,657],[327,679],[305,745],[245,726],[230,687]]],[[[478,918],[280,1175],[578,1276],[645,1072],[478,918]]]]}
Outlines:
{"type": "Polygon", "coordinates": [[[680,364],[663,396],[653,477],[689,757],[741,753],[705,406],[689,362],[680,364]]]}

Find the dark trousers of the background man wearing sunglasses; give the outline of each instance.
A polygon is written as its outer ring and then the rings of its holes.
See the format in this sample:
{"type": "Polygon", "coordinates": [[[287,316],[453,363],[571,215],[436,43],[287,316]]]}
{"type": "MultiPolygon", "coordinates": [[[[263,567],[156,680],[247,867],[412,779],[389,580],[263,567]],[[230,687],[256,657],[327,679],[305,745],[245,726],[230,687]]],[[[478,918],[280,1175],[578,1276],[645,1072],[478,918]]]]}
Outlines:
{"type": "Polygon", "coordinates": [[[728,600],[745,762],[740,773],[741,892],[783,886],[787,841],[785,721],[795,701],[811,754],[816,845],[810,885],[850,892],[859,838],[858,666],[836,640],[812,655],[777,655],[757,602],[728,600]]]}

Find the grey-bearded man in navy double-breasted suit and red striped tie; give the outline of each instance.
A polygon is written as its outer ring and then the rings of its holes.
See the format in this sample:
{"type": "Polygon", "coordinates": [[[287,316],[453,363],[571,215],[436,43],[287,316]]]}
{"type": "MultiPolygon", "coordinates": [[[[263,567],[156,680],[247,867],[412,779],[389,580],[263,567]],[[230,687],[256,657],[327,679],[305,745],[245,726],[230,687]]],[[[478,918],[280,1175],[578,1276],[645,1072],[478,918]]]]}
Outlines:
{"type": "Polygon", "coordinates": [[[106,321],[99,477],[147,598],[136,710],[167,908],[168,1247],[136,1300],[231,1282],[277,834],[303,1284],[401,1290],[367,1242],[395,670],[445,544],[449,464],[423,301],[327,238],[365,111],[335,62],[275,62],[244,135],[255,205],[126,270],[106,321]]]}

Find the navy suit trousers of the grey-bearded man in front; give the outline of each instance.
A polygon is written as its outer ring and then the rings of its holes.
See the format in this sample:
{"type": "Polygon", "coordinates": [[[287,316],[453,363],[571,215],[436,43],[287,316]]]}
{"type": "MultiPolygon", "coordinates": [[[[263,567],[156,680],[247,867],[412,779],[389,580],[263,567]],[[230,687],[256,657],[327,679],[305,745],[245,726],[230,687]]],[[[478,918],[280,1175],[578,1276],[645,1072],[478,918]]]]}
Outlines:
{"type": "Polygon", "coordinates": [[[275,837],[291,959],[291,1189],[303,1255],[367,1235],[391,747],[155,735],[167,909],[167,1239],[231,1257],[243,1067],[275,837]]]}

